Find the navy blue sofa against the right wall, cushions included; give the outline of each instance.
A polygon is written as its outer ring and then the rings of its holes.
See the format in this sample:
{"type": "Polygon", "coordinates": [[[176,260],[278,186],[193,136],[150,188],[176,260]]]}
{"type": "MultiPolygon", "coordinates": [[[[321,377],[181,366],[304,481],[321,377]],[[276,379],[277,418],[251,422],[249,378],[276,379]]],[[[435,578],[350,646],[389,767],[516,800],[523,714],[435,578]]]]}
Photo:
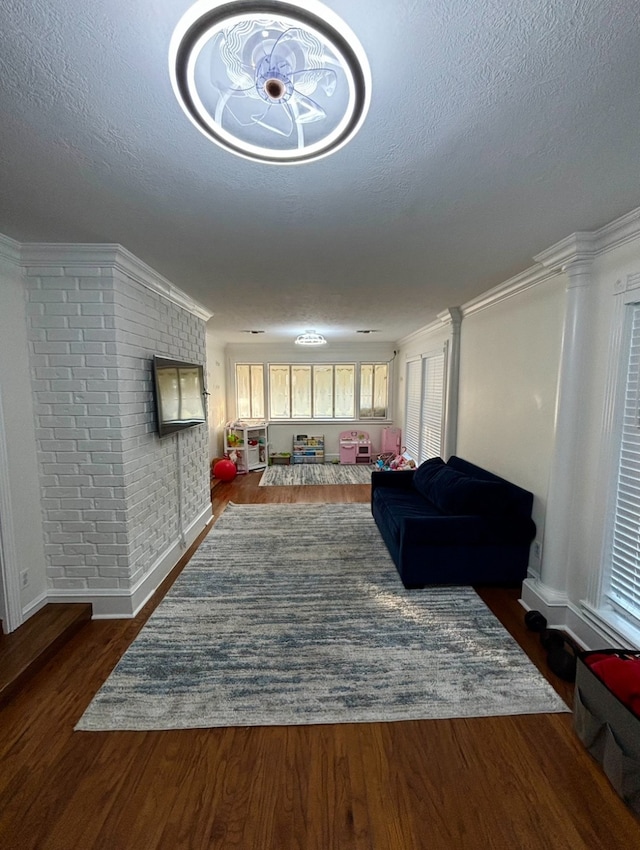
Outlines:
{"type": "Polygon", "coordinates": [[[519,584],[532,505],[532,493],[455,455],[371,473],[371,512],[407,588],[519,584]]]}

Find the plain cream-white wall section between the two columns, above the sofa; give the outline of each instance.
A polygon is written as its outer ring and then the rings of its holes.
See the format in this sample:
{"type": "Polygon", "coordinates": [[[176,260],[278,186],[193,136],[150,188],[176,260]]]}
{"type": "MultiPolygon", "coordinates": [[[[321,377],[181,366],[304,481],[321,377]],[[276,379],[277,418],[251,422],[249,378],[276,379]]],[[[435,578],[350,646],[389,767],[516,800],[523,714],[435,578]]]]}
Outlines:
{"type": "Polygon", "coordinates": [[[557,275],[478,311],[463,308],[457,453],[534,493],[540,539],[564,303],[557,275]]]}

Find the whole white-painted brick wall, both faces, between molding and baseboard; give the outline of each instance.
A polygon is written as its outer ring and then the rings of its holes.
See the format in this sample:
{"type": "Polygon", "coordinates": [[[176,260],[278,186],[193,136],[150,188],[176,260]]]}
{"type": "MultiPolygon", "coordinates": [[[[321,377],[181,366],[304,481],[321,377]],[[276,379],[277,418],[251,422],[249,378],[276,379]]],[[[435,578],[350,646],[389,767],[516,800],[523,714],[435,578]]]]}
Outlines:
{"type": "Polygon", "coordinates": [[[113,267],[33,266],[28,321],[50,588],[128,590],[208,501],[207,429],[159,439],[151,359],[205,362],[205,322],[113,267]],[[180,501],[181,500],[181,501],[180,501]]]}

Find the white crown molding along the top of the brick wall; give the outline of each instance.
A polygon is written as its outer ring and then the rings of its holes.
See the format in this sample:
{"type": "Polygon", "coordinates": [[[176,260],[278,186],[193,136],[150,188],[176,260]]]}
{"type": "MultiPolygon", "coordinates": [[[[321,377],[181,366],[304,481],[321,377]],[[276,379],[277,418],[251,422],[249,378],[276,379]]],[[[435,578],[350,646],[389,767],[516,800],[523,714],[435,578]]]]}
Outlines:
{"type": "Polygon", "coordinates": [[[34,269],[72,266],[74,269],[100,268],[120,272],[130,280],[156,292],[203,321],[213,313],[162,277],[131,251],[118,244],[78,244],[64,242],[27,242],[22,245],[22,265],[34,269]]]}

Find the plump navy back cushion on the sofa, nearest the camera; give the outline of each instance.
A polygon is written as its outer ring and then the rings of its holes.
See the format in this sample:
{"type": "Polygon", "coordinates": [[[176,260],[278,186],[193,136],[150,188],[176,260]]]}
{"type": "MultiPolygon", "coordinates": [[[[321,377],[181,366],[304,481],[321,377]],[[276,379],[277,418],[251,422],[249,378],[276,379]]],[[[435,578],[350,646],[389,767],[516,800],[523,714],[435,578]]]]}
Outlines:
{"type": "Polygon", "coordinates": [[[445,514],[502,516],[511,512],[508,486],[472,478],[446,464],[428,477],[420,493],[445,514]]]}

